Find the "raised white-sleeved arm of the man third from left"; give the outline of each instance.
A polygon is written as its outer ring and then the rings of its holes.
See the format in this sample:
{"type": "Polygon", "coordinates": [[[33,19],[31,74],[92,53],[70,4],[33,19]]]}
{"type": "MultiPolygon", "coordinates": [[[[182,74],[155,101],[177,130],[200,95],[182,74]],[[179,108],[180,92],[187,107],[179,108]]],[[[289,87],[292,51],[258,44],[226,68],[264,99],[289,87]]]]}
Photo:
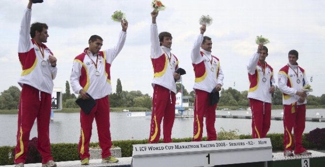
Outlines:
{"type": "Polygon", "coordinates": [[[150,27],[150,41],[151,41],[151,58],[158,58],[162,56],[162,49],[160,47],[159,37],[158,37],[158,28],[157,28],[157,19],[158,11],[152,11],[152,24],[150,27]]]}

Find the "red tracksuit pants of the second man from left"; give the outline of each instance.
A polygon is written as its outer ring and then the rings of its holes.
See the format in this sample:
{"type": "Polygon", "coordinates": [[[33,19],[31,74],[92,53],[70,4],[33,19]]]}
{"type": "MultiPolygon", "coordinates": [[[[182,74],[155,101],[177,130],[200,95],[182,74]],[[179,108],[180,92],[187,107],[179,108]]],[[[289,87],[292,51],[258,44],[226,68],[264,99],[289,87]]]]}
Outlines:
{"type": "Polygon", "coordinates": [[[81,135],[79,139],[79,154],[83,160],[89,158],[89,142],[92,136],[94,118],[97,125],[99,146],[102,149],[101,157],[111,156],[110,148],[112,147],[111,133],[109,130],[109,101],[108,96],[96,100],[93,110],[87,115],[80,111],[81,135]]]}

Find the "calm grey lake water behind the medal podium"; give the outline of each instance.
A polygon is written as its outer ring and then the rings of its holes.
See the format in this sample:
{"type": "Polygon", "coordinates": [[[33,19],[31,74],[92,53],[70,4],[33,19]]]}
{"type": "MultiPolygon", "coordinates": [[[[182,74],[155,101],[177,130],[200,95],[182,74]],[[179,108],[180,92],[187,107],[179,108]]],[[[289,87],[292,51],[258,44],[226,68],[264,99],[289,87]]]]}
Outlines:
{"type": "MultiPolygon", "coordinates": [[[[283,110],[272,110],[272,116],[281,116],[283,110]]],[[[184,111],[184,114],[192,114],[193,111],[184,111]]],[[[216,111],[217,115],[251,115],[251,111],[216,111]],[[229,113],[228,113],[229,112],[229,113]],[[248,112],[248,113],[247,113],[248,112]]],[[[325,116],[325,109],[307,110],[306,117],[325,116]],[[319,113],[319,115],[317,115],[319,113]]],[[[51,143],[78,143],[80,136],[79,113],[54,113],[54,120],[50,123],[51,143]]],[[[0,114],[0,146],[16,145],[17,114],[0,114]]],[[[151,116],[127,116],[127,112],[111,112],[111,136],[112,140],[148,139],[151,116]]],[[[238,129],[238,135],[251,134],[251,119],[216,118],[217,131],[224,128],[226,131],[238,129]]],[[[205,126],[205,125],[204,125],[205,126]]],[[[37,137],[36,121],[32,128],[31,139],[37,137]]],[[[315,128],[325,128],[325,122],[306,121],[304,133],[315,128]]],[[[271,120],[269,133],[283,133],[283,121],[271,120]]],[[[97,127],[94,121],[91,142],[97,142],[97,127]]],[[[161,135],[162,136],[162,135],[161,135]]],[[[172,138],[188,138],[193,136],[193,117],[175,118],[172,129],[172,138]]],[[[203,136],[206,136],[205,127],[203,136]]]]}

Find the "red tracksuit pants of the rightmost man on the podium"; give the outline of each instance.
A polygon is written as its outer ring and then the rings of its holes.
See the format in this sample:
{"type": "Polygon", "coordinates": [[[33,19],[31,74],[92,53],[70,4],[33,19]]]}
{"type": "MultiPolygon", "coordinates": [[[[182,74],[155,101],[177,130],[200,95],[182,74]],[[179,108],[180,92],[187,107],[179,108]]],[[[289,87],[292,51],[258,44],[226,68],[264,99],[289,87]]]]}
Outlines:
{"type": "Polygon", "coordinates": [[[302,133],[305,130],[306,105],[283,105],[284,116],[284,139],[285,150],[292,151],[292,128],[294,133],[294,154],[304,152],[302,146],[302,133]],[[292,113],[293,112],[293,113],[292,113]]]}

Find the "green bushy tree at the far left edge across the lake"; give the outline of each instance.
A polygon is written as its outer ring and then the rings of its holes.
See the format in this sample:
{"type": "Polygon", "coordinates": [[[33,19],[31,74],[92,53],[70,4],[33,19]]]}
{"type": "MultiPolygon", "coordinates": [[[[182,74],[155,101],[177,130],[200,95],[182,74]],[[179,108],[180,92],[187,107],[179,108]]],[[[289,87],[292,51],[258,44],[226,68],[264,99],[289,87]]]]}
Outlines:
{"type": "Polygon", "coordinates": [[[10,86],[7,90],[1,92],[0,109],[11,110],[17,109],[20,99],[20,90],[17,86],[10,86]]]}

